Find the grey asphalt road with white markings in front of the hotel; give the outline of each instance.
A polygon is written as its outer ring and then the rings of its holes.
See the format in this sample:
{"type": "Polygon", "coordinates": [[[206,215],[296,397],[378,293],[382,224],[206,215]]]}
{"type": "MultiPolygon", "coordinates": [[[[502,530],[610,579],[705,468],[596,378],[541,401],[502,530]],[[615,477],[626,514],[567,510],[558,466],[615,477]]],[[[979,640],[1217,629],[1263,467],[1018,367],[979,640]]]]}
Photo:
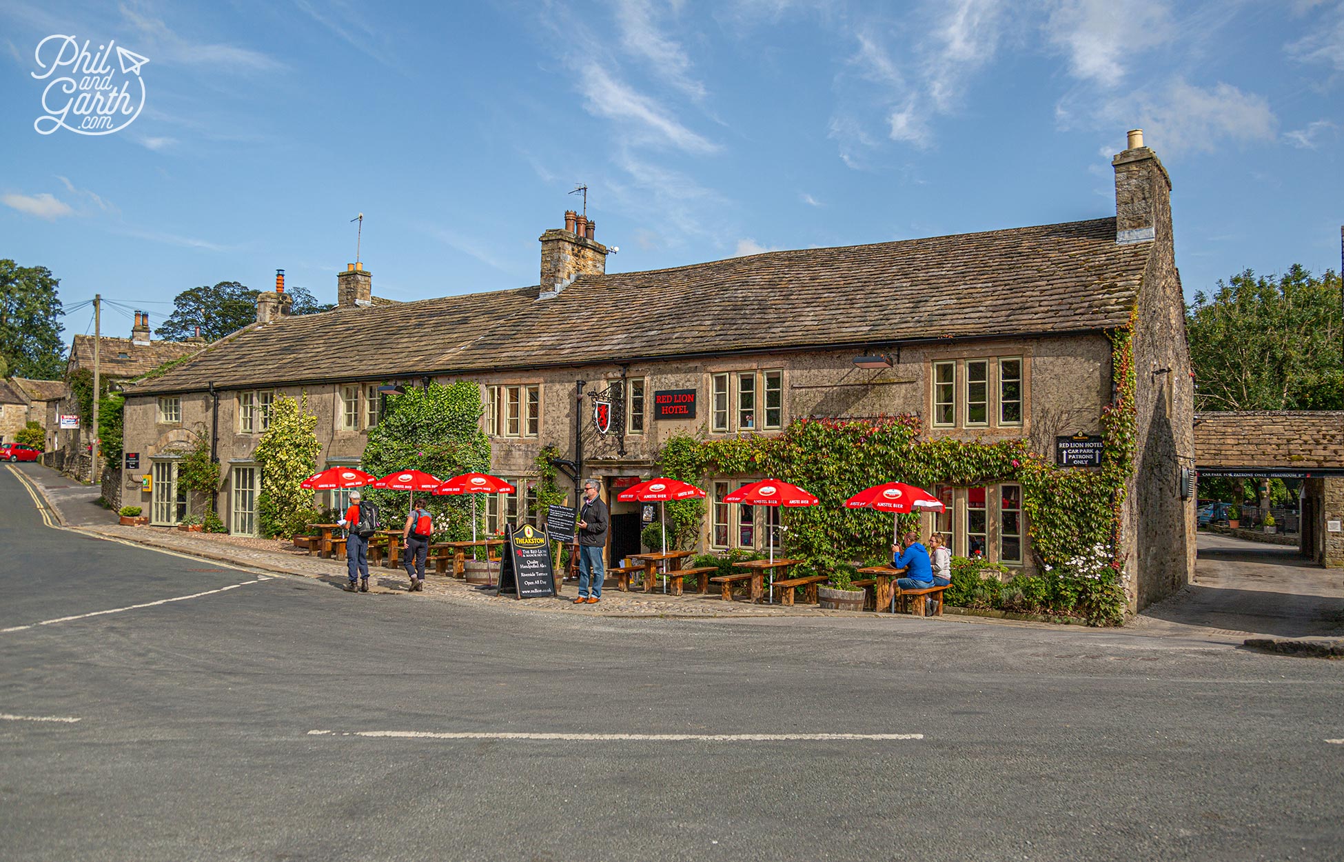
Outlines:
{"type": "Polygon", "coordinates": [[[349,594],[46,527],[4,469],[0,561],[4,859],[1344,855],[1340,662],[349,594]]]}

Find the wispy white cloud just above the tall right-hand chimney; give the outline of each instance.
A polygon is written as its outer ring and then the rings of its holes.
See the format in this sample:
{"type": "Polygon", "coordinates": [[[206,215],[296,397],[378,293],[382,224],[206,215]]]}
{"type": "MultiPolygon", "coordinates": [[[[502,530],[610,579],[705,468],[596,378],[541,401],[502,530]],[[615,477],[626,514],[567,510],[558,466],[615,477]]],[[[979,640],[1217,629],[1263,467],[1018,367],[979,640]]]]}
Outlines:
{"type": "Polygon", "coordinates": [[[1243,93],[1230,83],[1199,87],[1184,78],[1157,91],[1110,101],[1101,118],[1113,128],[1137,120],[1164,155],[1212,152],[1224,141],[1273,141],[1278,126],[1263,95],[1243,93]]]}

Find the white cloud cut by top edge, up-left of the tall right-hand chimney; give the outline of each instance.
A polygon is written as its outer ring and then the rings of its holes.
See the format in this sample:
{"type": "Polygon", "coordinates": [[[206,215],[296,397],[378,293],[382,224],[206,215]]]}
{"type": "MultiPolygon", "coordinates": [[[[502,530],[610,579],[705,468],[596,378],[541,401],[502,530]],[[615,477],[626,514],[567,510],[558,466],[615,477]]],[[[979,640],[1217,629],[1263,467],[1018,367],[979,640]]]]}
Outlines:
{"type": "Polygon", "coordinates": [[[1133,54],[1176,35],[1171,11],[1159,0],[1063,0],[1046,22],[1050,42],[1068,58],[1075,78],[1113,87],[1133,54]]]}

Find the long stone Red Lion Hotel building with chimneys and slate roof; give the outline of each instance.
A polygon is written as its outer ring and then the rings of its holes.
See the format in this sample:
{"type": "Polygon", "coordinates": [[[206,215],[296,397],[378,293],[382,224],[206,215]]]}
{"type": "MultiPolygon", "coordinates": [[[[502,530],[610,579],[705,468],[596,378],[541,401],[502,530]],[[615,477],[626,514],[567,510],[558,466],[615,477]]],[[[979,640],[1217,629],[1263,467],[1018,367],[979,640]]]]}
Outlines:
{"type": "MultiPolygon", "coordinates": [[[[1141,606],[1193,566],[1193,504],[1180,494],[1193,394],[1169,178],[1141,133],[1114,169],[1117,215],[1093,221],[609,274],[595,225],[567,212],[540,237],[534,286],[379,307],[358,301],[372,276],[349,268],[327,313],[288,317],[263,295],[258,323],[128,390],[126,449],[152,476],[142,504],[157,524],[191,511],[175,460],[208,434],[227,468],[218,510],[250,533],[250,459],[277,394],[306,395],[327,467],[359,461],[380,385],[426,381],[481,386],[492,471],[524,488],[488,502],[492,527],[535,518],[526,488],[548,442],[566,457],[582,448],[583,475],[613,500],[652,475],[676,432],[769,434],[801,417],[913,413],[929,437],[1051,452],[1058,436],[1101,433],[1111,335],[1133,327],[1138,440],[1122,530],[1141,606]],[[598,397],[617,407],[614,433],[593,428],[598,397]]],[[[770,515],[723,502],[750,479],[711,477],[704,546],[762,546],[770,515]]],[[[929,527],[954,553],[1034,569],[1017,485],[937,492],[949,512],[929,527]]],[[[613,504],[613,558],[638,550],[640,526],[637,506],[613,504]]]]}

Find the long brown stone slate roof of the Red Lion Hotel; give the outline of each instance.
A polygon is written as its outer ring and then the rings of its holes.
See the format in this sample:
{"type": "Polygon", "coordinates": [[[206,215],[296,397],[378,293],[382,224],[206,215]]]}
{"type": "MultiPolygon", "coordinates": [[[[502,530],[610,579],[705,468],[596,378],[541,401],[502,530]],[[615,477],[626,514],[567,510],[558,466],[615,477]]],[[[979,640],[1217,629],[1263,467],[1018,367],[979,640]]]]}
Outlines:
{"type": "Polygon", "coordinates": [[[245,327],[132,391],[1118,328],[1149,249],[1105,218],[341,308],[245,327]]]}

